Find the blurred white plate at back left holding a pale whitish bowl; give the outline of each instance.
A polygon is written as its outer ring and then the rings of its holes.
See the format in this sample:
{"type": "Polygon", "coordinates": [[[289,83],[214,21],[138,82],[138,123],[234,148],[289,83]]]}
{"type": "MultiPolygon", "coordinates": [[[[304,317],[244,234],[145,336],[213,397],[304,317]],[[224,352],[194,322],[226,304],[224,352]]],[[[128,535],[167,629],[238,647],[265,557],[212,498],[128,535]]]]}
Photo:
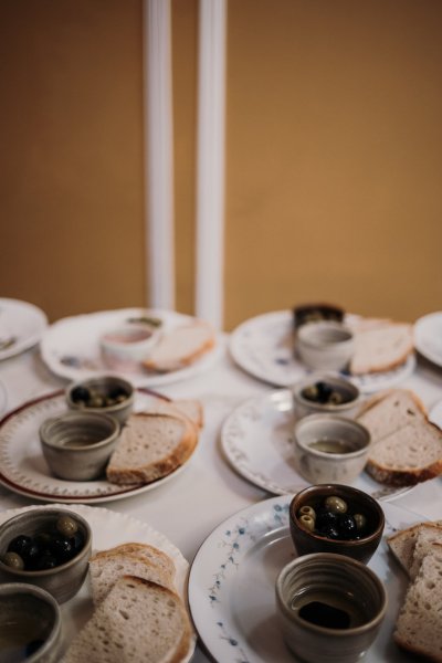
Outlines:
{"type": "MultiPolygon", "coordinates": [[[[162,320],[162,332],[185,325],[194,318],[172,311],[146,308],[120,308],[118,311],[101,311],[63,318],[51,325],[41,340],[41,354],[49,368],[63,378],[83,380],[104,372],[113,372],[106,368],[101,357],[99,338],[109,329],[118,327],[129,318],[149,315],[162,320]]],[[[144,370],[119,371],[136,387],[170,385],[178,380],[193,377],[210,368],[220,355],[220,344],[201,356],[190,366],[167,373],[155,373],[144,370]]]]}

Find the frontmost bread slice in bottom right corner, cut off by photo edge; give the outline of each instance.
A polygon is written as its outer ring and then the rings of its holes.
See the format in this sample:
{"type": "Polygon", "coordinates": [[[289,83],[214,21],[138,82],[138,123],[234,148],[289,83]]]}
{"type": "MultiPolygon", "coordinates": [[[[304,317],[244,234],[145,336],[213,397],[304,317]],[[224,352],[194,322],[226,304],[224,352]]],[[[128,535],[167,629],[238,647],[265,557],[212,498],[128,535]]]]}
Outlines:
{"type": "Polygon", "coordinates": [[[408,587],[399,612],[394,641],[402,649],[442,662],[442,547],[425,555],[408,587]]]}

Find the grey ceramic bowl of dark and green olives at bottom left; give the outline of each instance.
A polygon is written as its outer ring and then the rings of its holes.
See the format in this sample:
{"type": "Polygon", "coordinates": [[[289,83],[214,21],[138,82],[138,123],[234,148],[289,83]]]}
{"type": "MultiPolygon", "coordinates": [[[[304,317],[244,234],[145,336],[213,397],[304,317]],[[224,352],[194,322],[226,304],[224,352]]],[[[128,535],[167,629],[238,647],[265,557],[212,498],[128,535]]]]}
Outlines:
{"type": "Polygon", "coordinates": [[[82,516],[69,509],[34,508],[13,516],[0,526],[0,580],[2,582],[25,582],[49,591],[59,603],[67,601],[80,590],[87,575],[92,550],[91,527],[82,516]],[[4,564],[4,555],[12,539],[19,535],[34,537],[54,532],[60,516],[69,515],[77,524],[83,544],[76,555],[45,570],[23,570],[4,564]]]}

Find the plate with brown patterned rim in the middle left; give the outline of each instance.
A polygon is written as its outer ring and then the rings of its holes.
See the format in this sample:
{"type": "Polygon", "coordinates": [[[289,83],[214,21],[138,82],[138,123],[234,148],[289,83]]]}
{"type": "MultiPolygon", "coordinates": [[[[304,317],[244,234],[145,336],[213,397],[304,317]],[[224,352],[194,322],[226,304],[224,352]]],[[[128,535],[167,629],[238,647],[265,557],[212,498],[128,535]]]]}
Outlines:
{"type": "MultiPolygon", "coordinates": [[[[134,410],[141,409],[143,398],[144,394],[137,392],[134,410]]],[[[190,461],[143,486],[118,486],[105,478],[77,482],[56,478],[42,454],[39,428],[45,419],[65,410],[64,391],[56,391],[24,403],[0,421],[0,484],[13,493],[43,502],[97,504],[152,491],[177,476],[190,461]]]]}

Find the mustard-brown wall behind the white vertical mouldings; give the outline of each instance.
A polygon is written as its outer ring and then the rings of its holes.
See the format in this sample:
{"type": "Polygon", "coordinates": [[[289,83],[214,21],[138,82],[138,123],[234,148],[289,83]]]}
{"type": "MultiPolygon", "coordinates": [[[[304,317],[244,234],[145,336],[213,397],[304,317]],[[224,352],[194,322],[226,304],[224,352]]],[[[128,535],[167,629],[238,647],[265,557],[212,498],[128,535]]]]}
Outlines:
{"type": "MultiPolygon", "coordinates": [[[[0,295],[147,297],[141,0],[0,8],[0,295]]],[[[193,312],[198,1],[172,1],[177,308],[193,312]]],[[[225,326],[308,299],[441,308],[442,3],[228,11],[225,326]]]]}

